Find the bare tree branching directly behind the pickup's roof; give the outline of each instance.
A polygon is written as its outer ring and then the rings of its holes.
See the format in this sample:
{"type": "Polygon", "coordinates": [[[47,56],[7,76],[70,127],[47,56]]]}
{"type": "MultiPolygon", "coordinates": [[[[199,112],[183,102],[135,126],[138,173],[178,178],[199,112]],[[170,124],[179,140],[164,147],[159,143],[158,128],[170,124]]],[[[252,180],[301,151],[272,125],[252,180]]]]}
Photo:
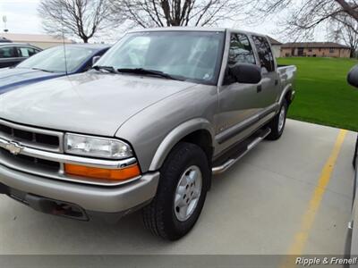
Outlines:
{"type": "Polygon", "coordinates": [[[114,0],[113,10],[143,28],[205,26],[234,20],[245,4],[238,0],[114,0]]]}

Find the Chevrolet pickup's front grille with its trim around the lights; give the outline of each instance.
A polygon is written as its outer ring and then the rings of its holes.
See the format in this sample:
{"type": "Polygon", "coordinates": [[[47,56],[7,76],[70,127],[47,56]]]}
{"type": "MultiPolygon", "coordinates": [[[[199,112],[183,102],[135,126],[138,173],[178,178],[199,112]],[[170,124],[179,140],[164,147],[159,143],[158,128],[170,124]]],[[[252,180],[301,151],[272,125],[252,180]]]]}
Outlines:
{"type": "Polygon", "coordinates": [[[42,130],[0,119],[0,165],[48,179],[67,180],[100,186],[116,186],[138,180],[96,180],[64,173],[64,163],[79,163],[105,168],[123,168],[136,163],[135,158],[118,161],[91,159],[64,154],[64,133],[42,130]],[[9,144],[17,144],[19,153],[9,150],[9,144]]]}

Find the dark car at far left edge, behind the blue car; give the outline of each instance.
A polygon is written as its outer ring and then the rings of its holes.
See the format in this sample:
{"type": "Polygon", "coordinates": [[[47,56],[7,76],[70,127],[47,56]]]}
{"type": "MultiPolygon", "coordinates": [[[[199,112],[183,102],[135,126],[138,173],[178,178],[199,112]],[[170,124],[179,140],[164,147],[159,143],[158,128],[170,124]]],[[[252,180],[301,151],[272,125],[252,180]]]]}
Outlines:
{"type": "MultiPolygon", "coordinates": [[[[7,39],[6,39],[7,40],[7,39]]],[[[21,63],[31,55],[38,54],[42,49],[29,44],[12,43],[2,39],[0,42],[0,68],[21,63]]]]}

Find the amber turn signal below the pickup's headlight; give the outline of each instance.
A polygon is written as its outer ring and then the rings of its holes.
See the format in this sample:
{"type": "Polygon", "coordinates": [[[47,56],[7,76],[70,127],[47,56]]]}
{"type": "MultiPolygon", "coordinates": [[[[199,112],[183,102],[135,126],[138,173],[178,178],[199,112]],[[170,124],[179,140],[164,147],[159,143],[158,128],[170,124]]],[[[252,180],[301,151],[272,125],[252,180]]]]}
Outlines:
{"type": "Polygon", "coordinates": [[[104,180],[129,180],[141,175],[140,168],[137,164],[120,170],[110,170],[65,163],[64,172],[70,175],[104,180]]]}

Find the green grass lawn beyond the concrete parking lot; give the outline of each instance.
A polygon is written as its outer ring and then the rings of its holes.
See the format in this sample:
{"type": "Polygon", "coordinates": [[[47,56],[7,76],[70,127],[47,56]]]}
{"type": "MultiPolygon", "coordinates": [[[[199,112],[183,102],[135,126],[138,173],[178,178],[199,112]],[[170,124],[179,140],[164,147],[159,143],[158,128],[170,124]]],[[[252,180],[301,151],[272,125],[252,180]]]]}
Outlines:
{"type": "Polygon", "coordinates": [[[335,58],[279,58],[297,66],[296,96],[288,117],[358,131],[358,89],[346,82],[358,61],[335,58]]]}

